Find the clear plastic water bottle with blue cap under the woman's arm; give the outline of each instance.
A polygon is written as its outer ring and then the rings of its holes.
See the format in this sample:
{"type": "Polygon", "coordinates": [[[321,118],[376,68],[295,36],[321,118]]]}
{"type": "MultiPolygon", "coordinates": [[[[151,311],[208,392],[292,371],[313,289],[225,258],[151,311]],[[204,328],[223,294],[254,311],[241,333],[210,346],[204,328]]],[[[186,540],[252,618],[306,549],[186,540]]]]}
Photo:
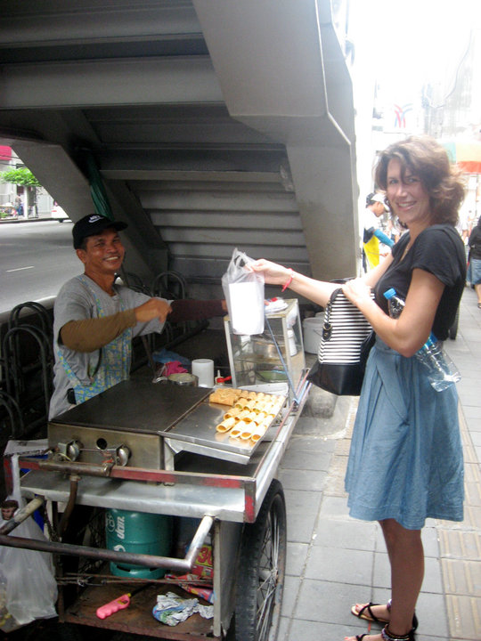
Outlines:
{"type": "MultiPolygon", "coordinates": [[[[399,318],[404,310],[404,300],[396,296],[395,289],[387,289],[384,292],[389,307],[389,316],[399,318]]],[[[436,392],[442,392],[446,387],[461,380],[461,374],[443,350],[443,344],[438,341],[431,332],[428,340],[418,352],[416,358],[428,369],[429,383],[436,392]]]]}

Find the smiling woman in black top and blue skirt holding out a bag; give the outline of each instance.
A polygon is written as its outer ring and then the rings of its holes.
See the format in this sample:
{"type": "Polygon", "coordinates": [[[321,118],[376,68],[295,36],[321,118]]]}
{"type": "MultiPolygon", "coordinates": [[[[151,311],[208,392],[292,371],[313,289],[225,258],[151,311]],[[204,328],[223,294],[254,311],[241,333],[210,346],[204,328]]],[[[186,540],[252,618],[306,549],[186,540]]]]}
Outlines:
{"type": "MultiPolygon", "coordinates": [[[[454,225],[464,191],[444,148],[428,137],[395,142],[378,159],[376,183],[408,231],[381,264],[343,286],[376,332],[359,399],[346,471],[350,514],[379,521],[391,565],[388,604],[355,604],[352,613],[386,623],[380,634],[346,637],[406,641],[424,575],[425,519],[461,521],[463,460],[454,385],[436,392],[413,358],[431,330],[448,337],[466,278],[454,225]],[[371,288],[375,300],[371,298],[371,288]],[[405,299],[398,319],[383,293],[405,299]]],[[[325,306],[338,285],[307,278],[264,259],[265,282],[287,286],[325,306]]]]}

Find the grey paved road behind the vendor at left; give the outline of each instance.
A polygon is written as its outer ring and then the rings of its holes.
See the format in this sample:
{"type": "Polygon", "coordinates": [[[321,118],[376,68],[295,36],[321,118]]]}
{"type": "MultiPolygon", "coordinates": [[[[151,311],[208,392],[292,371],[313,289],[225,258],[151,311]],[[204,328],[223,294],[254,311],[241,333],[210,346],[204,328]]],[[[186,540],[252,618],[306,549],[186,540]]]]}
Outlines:
{"type": "Polygon", "coordinates": [[[0,313],[55,296],[81,272],[71,238],[70,222],[0,225],[0,313]]]}

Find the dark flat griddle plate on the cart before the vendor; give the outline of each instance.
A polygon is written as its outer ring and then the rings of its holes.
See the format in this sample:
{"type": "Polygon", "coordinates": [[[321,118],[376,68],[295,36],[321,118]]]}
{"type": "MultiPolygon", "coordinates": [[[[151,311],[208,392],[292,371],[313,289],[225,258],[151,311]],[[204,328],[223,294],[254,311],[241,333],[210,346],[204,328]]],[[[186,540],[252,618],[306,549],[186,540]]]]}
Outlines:
{"type": "Polygon", "coordinates": [[[110,387],[51,423],[157,434],[175,425],[211,392],[210,387],[132,379],[110,387]]]}

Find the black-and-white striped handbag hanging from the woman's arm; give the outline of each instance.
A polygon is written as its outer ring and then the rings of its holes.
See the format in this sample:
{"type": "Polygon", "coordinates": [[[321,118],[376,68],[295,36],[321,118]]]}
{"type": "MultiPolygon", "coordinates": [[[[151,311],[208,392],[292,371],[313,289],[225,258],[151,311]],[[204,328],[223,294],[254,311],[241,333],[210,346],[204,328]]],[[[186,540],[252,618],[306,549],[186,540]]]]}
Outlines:
{"type": "Polygon", "coordinates": [[[332,394],[357,396],[374,339],[363,314],[341,288],[335,289],[324,312],[317,361],[307,380],[332,394]]]}

